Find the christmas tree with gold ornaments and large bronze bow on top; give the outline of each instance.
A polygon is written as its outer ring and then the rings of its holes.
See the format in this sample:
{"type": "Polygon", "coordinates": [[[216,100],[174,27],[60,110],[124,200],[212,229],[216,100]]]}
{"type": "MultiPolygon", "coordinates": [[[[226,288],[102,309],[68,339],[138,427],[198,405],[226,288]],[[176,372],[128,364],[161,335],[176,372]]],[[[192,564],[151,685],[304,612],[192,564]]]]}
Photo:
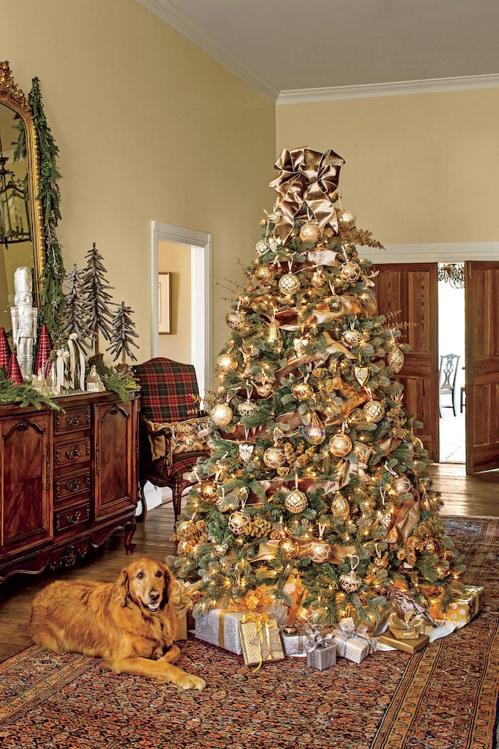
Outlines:
{"type": "Polygon", "coordinates": [[[218,357],[209,457],[177,524],[180,577],[200,577],[198,608],[272,588],[331,625],[373,622],[393,598],[452,597],[459,567],[429,480],[421,427],[402,407],[408,346],[377,315],[381,247],[337,193],[343,159],[283,151],[218,357]],[[288,585],[287,585],[288,583],[288,585]]]}

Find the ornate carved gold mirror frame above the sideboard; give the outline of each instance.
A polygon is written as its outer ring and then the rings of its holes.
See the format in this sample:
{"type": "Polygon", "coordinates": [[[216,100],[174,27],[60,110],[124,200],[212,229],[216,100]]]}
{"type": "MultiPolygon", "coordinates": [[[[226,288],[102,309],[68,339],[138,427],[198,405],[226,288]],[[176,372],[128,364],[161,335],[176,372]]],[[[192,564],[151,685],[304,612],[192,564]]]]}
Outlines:
{"type": "Polygon", "coordinates": [[[45,267],[45,239],[43,234],[43,210],[37,198],[40,184],[40,151],[37,132],[34,127],[31,107],[25,95],[14,83],[7,61],[0,61],[0,104],[4,104],[22,120],[26,134],[26,155],[28,158],[29,207],[31,212],[31,243],[34,258],[34,300],[41,309],[40,279],[45,267]]]}

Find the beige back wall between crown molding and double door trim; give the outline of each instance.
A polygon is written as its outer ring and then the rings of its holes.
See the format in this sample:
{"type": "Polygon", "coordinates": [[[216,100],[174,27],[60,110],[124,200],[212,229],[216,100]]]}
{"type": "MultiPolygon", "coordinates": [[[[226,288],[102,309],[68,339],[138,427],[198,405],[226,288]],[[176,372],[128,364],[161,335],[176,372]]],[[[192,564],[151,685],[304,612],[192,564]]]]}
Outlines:
{"type": "Polygon", "coordinates": [[[499,239],[499,89],[277,107],[277,145],[332,148],[343,205],[383,243],[499,239]]]}

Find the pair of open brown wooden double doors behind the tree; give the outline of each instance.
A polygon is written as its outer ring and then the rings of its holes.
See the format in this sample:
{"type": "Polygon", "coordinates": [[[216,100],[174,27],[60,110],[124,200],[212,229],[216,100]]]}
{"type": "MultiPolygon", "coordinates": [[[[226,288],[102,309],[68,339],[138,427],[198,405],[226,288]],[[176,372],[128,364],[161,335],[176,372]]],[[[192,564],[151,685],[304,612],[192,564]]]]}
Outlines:
{"type": "MultiPolygon", "coordinates": [[[[438,265],[379,264],[376,270],[379,313],[408,323],[402,341],[411,351],[399,373],[405,409],[423,422],[417,434],[438,461],[438,265]]],[[[498,300],[499,263],[466,262],[466,473],[499,467],[498,300]]]]}

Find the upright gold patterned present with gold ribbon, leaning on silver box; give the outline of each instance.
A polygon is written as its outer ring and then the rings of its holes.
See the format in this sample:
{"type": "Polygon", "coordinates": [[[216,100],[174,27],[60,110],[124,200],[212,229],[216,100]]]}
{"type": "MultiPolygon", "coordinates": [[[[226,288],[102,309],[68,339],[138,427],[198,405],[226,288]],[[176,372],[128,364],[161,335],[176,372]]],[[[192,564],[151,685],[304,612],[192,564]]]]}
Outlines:
{"type": "Polygon", "coordinates": [[[264,662],[284,658],[278,622],[268,613],[244,613],[239,620],[239,638],[245,664],[256,666],[254,673],[264,662]]]}

